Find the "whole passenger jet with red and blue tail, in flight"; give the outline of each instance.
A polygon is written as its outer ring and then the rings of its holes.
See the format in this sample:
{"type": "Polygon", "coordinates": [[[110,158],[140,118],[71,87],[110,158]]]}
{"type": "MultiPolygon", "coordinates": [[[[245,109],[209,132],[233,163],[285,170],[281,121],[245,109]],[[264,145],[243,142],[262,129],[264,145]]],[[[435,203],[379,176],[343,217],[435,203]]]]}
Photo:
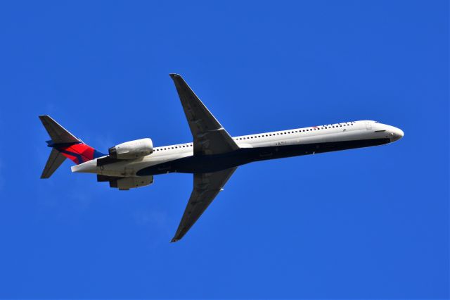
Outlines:
{"type": "Polygon", "coordinates": [[[378,146],[404,136],[397,127],[373,120],[350,121],[231,137],[179,74],[170,74],[183,106],[193,142],[153,146],[149,138],[117,144],[108,154],[82,142],[49,115],[39,115],[51,139],[41,174],[49,178],[69,158],[73,173],[94,173],[98,182],[128,190],[153,183],[153,176],[192,173],[193,189],[171,242],[179,241],[200,218],[236,168],[275,158],[378,146]]]}

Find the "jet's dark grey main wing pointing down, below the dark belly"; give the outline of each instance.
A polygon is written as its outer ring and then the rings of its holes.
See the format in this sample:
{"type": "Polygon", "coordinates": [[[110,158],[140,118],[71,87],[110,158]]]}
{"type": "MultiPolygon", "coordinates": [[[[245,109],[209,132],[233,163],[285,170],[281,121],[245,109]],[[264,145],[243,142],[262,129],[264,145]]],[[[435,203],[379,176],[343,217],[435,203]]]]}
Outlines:
{"type": "Polygon", "coordinates": [[[183,218],[171,242],[176,242],[194,225],[195,221],[219,194],[237,168],[221,170],[213,173],[194,174],[194,185],[183,218]]]}

